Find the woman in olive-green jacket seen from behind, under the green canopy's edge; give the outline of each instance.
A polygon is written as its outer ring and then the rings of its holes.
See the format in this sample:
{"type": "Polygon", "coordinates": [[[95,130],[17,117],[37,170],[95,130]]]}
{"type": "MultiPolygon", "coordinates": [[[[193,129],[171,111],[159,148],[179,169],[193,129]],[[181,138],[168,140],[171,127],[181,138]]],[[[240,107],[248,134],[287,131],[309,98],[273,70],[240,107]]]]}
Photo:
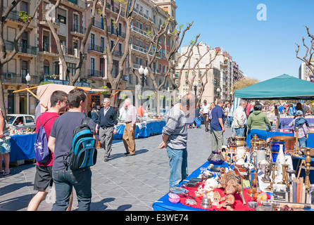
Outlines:
{"type": "Polygon", "coordinates": [[[263,106],[260,103],[254,105],[253,112],[249,115],[248,121],[246,122],[249,129],[251,129],[251,138],[256,134],[258,139],[267,139],[266,126],[272,131],[272,126],[268,117],[262,112],[263,106]]]}

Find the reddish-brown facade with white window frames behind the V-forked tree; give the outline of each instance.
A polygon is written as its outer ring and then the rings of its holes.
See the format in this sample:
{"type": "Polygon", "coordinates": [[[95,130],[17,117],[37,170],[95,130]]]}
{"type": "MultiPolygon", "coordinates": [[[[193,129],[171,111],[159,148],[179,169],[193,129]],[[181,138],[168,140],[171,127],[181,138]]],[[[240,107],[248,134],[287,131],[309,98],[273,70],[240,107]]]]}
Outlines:
{"type": "MultiPolygon", "coordinates": [[[[63,65],[59,58],[56,39],[50,30],[46,18],[47,11],[56,4],[56,1],[43,1],[37,13],[37,75],[39,82],[54,79],[56,83],[68,81],[69,77],[63,72],[63,65]]],[[[86,1],[69,0],[61,1],[61,4],[51,13],[51,20],[54,29],[60,39],[63,56],[70,71],[70,75],[75,74],[75,65],[79,60],[80,44],[84,37],[84,17],[87,11],[86,1]],[[82,26],[83,25],[83,26],[82,26]]],[[[84,63],[83,63],[84,67],[84,63]]]]}

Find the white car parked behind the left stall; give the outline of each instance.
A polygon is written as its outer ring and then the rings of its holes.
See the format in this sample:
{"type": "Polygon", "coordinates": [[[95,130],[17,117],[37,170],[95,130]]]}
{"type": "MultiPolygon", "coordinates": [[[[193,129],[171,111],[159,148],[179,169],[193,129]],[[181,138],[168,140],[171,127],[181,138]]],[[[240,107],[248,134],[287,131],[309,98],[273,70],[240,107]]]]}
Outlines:
{"type": "Polygon", "coordinates": [[[8,121],[8,126],[10,129],[30,128],[31,131],[36,129],[34,115],[8,114],[6,115],[6,120],[8,121]]]}

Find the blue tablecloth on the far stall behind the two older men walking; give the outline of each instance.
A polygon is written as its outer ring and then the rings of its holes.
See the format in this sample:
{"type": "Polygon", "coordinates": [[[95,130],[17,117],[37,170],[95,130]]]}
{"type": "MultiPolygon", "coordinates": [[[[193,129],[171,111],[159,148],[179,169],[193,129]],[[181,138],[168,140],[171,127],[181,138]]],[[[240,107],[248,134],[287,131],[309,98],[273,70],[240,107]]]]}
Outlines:
{"type": "MultiPolygon", "coordinates": [[[[151,136],[152,134],[161,134],[165,127],[165,120],[147,121],[137,124],[135,128],[135,138],[142,139],[151,136]]],[[[113,139],[122,139],[125,124],[120,124],[117,127],[117,134],[113,135],[113,139]]]]}

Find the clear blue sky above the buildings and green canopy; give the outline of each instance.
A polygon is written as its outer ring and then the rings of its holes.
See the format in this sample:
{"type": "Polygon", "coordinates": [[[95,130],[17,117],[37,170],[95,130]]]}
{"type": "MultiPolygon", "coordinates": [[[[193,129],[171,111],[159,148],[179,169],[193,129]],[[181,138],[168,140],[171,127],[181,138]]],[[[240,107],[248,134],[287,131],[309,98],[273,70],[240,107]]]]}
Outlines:
{"type": "Polygon", "coordinates": [[[177,0],[177,23],[187,25],[182,46],[197,34],[208,46],[223,47],[248,77],[263,81],[287,74],[299,77],[301,60],[296,44],[314,34],[313,0],[177,0]],[[258,4],[265,4],[267,20],[258,20],[258,4]]]}

